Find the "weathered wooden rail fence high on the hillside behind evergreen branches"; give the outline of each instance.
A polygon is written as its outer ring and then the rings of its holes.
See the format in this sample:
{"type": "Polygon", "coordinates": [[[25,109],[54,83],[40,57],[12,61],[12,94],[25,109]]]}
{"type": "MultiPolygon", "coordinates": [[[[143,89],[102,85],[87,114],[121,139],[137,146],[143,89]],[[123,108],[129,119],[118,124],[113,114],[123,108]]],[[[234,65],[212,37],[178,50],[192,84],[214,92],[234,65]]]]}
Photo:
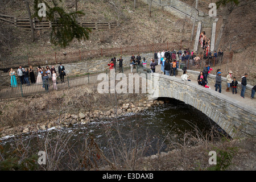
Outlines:
{"type": "MultiPolygon", "coordinates": [[[[16,18],[14,16],[0,14],[0,20],[14,24],[15,27],[23,28],[24,30],[31,30],[30,20],[28,18],[16,18]]],[[[33,18],[33,26],[35,30],[43,30],[52,28],[56,22],[50,22],[43,18],[42,21],[33,18]]],[[[79,22],[82,27],[92,28],[95,30],[106,30],[119,26],[117,22],[79,22]]]]}

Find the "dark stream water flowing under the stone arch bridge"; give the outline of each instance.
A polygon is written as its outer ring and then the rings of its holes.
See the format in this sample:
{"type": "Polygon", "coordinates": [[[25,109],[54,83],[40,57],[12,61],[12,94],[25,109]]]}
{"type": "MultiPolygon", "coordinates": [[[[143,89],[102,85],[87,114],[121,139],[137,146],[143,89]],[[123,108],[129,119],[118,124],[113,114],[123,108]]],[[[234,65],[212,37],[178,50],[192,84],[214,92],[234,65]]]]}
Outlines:
{"type": "MultiPolygon", "coordinates": [[[[143,151],[143,156],[149,156],[158,151],[170,150],[173,143],[183,143],[184,133],[205,137],[209,136],[212,128],[217,133],[224,132],[201,111],[184,102],[170,99],[169,104],[154,106],[137,114],[130,113],[115,119],[73,125],[61,130],[52,128],[40,133],[2,138],[0,145],[9,150],[23,143],[22,146],[30,147],[31,153],[37,154],[40,148],[44,148],[39,147],[38,143],[45,144],[48,138],[47,142],[51,146],[56,146],[57,142],[59,145],[67,144],[68,147],[59,150],[63,155],[71,148],[78,154],[88,149],[92,153],[96,152],[98,147],[107,157],[118,155],[121,150],[130,152],[134,148],[143,151]],[[92,138],[96,145],[92,144],[92,138]]],[[[213,134],[217,133],[214,131],[213,134]]]]}

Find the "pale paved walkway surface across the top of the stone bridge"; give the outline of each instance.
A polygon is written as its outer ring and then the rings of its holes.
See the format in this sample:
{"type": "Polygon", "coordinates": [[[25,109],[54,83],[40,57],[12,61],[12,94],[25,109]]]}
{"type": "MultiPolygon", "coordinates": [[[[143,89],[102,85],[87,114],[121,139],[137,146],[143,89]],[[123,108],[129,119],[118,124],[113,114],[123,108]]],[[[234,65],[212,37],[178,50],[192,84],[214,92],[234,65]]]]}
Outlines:
{"type": "MultiPolygon", "coordinates": [[[[149,67],[148,67],[149,68],[149,67]]],[[[161,65],[158,65],[158,66],[156,66],[156,69],[155,69],[155,72],[156,73],[162,73],[161,72],[161,65]]],[[[189,73],[187,74],[188,76],[189,76],[189,73]]],[[[178,77],[178,78],[180,78],[180,75],[179,76],[176,76],[176,77],[178,77]]],[[[181,79],[181,78],[180,78],[181,79]]],[[[196,83],[197,84],[197,80],[193,80],[193,79],[191,79],[191,82],[194,82],[194,83],[196,83]]],[[[199,85],[199,86],[201,86],[201,85],[199,85]]],[[[213,89],[213,90],[215,90],[215,87],[214,87],[214,85],[212,85],[212,84],[209,84],[208,86],[210,86],[210,89],[213,89]]],[[[209,89],[209,88],[205,88],[205,89],[209,89]]],[[[223,87],[223,88],[221,88],[222,90],[221,90],[221,94],[224,94],[225,96],[228,96],[228,97],[230,97],[230,98],[232,98],[232,99],[234,99],[234,100],[236,100],[236,101],[240,101],[243,105],[245,105],[245,106],[250,106],[250,107],[253,107],[254,108],[254,110],[256,109],[256,96],[254,96],[254,99],[253,100],[251,100],[251,98],[249,97],[249,96],[245,96],[245,98],[242,98],[241,96],[240,96],[240,93],[241,92],[238,92],[237,94],[232,94],[232,90],[231,90],[231,92],[226,92],[226,87],[223,87]]]]}

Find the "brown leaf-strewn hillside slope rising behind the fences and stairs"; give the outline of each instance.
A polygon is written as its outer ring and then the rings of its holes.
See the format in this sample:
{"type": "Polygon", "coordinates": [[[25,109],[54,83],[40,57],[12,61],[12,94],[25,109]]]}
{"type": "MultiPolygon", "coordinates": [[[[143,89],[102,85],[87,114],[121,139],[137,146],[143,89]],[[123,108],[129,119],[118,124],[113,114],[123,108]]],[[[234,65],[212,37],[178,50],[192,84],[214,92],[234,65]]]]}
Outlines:
{"type": "MultiPolygon", "coordinates": [[[[188,5],[195,6],[194,0],[181,0],[188,5]]],[[[31,10],[32,10],[32,0],[31,10]]],[[[213,0],[211,2],[216,2],[213,0]]],[[[199,0],[199,10],[208,13],[209,1],[199,0]]],[[[27,10],[24,2],[3,0],[0,7],[1,14],[9,14],[17,17],[27,17],[27,10]]],[[[72,0],[63,0],[60,6],[68,11],[75,10],[75,3],[72,0]]],[[[14,28],[9,23],[3,23],[2,29],[8,32],[10,37],[9,46],[0,43],[0,56],[37,55],[51,52],[67,52],[77,49],[98,49],[120,46],[131,46],[147,43],[166,43],[189,40],[190,33],[172,32],[173,29],[191,30],[191,21],[180,19],[175,14],[168,13],[161,9],[152,7],[152,14],[149,17],[148,5],[137,1],[137,8],[134,11],[133,1],[118,0],[89,0],[79,1],[78,10],[84,11],[85,15],[81,20],[86,22],[119,22],[120,26],[106,31],[92,31],[89,40],[73,42],[66,48],[55,47],[49,43],[49,30],[36,31],[36,41],[31,43],[30,32],[14,28]]],[[[249,83],[255,85],[256,66],[253,50],[255,46],[255,3],[242,6],[233,11],[229,17],[228,26],[220,43],[220,49],[224,52],[234,52],[232,63],[218,65],[224,75],[230,69],[234,76],[241,77],[245,72],[249,73],[249,83]]],[[[217,35],[221,27],[222,17],[218,15],[217,35]]],[[[7,36],[6,36],[7,37],[7,36]]],[[[217,37],[217,36],[216,36],[217,37]]],[[[217,68],[216,68],[217,69],[217,68]]]]}

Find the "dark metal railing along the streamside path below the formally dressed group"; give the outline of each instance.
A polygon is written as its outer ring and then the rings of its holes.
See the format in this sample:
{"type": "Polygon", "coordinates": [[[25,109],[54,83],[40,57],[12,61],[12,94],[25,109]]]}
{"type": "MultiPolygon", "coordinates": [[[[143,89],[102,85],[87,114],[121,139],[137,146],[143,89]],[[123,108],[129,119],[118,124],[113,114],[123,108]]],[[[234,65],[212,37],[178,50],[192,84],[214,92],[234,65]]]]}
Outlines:
{"type": "MultiPolygon", "coordinates": [[[[138,66],[134,67],[133,73],[141,73],[141,72],[150,72],[150,69],[143,69],[143,67],[138,66]]],[[[88,85],[88,84],[97,84],[101,82],[101,77],[98,77],[101,73],[106,73],[110,75],[110,70],[105,70],[101,72],[95,73],[85,73],[83,75],[75,75],[75,76],[67,76],[64,79],[64,82],[61,82],[60,77],[57,77],[57,90],[64,90],[68,88],[73,88],[76,86],[88,85]]],[[[119,73],[119,68],[115,69],[115,74],[119,73]]],[[[123,74],[128,75],[131,73],[131,68],[123,67],[123,74]]],[[[35,94],[49,93],[52,92],[53,82],[49,79],[48,82],[48,90],[46,89],[43,83],[40,84],[19,84],[15,86],[1,86],[0,88],[0,98],[13,98],[13,97],[25,97],[31,96],[35,94]],[[44,87],[43,87],[44,86],[44,87]]]]}

